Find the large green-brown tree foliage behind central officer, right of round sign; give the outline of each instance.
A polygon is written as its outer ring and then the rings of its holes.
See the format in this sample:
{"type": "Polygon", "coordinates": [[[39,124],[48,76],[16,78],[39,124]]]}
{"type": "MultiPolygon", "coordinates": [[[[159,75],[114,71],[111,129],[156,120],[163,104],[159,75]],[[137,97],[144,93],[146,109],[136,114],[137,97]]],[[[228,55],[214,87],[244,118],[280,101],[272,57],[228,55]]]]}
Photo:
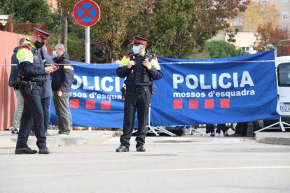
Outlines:
{"type": "Polygon", "coordinates": [[[228,18],[246,10],[238,0],[99,0],[99,22],[92,37],[104,45],[107,62],[130,49],[133,35],[149,38],[149,50],[163,57],[188,57],[217,31],[227,29],[228,18]]]}

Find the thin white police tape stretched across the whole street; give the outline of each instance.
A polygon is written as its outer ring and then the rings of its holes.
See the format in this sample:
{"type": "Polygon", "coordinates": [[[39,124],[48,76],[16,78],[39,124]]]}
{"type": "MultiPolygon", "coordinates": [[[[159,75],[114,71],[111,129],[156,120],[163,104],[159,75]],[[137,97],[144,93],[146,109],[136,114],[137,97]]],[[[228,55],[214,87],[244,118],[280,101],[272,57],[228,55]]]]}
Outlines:
{"type": "MultiPolygon", "coordinates": [[[[290,62],[290,59],[284,60],[247,60],[247,61],[207,61],[207,62],[163,62],[158,64],[224,64],[224,63],[251,63],[251,62],[290,62]]],[[[57,64],[57,66],[82,66],[82,65],[100,65],[101,63],[74,63],[74,64],[57,64]]],[[[113,63],[102,63],[102,64],[113,64],[113,63]]],[[[17,66],[18,64],[0,64],[0,66],[17,66]]]]}

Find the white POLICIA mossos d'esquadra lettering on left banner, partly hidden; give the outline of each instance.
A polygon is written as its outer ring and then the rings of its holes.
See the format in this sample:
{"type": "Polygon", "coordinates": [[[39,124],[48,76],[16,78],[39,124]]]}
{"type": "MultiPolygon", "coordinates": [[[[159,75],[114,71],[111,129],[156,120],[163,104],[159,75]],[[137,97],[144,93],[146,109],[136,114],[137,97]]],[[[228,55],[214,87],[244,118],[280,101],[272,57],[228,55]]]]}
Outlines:
{"type": "Polygon", "coordinates": [[[77,98],[90,98],[90,99],[106,99],[106,100],[122,100],[120,94],[106,94],[105,92],[120,92],[120,78],[119,77],[99,77],[95,76],[91,85],[88,83],[88,76],[74,76],[74,84],[71,85],[72,90],[81,89],[85,92],[72,91],[69,96],[77,98]]]}

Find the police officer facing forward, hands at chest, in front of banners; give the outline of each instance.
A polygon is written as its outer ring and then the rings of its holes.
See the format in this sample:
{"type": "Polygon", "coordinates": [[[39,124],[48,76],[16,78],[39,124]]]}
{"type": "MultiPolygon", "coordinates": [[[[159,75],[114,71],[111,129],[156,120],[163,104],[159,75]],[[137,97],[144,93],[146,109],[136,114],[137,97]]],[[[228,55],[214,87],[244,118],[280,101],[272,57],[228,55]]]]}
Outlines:
{"type": "Polygon", "coordinates": [[[156,56],[145,49],[147,42],[146,38],[134,36],[133,52],[123,57],[117,69],[117,75],[126,80],[123,135],[120,136],[120,147],[116,152],[129,151],[136,109],[138,120],[136,148],[138,152],[145,152],[146,123],[154,90],[153,80],[159,80],[163,76],[156,56]]]}

